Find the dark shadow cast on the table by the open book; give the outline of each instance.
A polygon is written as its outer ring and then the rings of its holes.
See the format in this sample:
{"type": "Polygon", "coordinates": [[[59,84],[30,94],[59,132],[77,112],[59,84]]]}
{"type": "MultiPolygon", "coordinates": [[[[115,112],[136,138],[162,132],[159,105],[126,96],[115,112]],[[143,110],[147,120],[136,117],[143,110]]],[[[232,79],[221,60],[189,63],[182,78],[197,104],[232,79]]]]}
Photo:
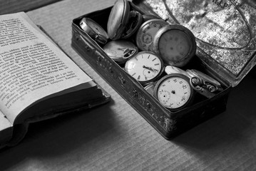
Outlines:
{"type": "MultiPolygon", "coordinates": [[[[0,168],[9,168],[33,156],[51,157],[68,153],[101,137],[109,139],[108,132],[119,134],[113,127],[116,120],[111,110],[113,100],[106,105],[81,113],[62,115],[29,125],[24,140],[15,147],[0,150],[0,168]],[[106,134],[106,135],[104,135],[106,134]]],[[[97,150],[97,149],[95,149],[97,150]]]]}

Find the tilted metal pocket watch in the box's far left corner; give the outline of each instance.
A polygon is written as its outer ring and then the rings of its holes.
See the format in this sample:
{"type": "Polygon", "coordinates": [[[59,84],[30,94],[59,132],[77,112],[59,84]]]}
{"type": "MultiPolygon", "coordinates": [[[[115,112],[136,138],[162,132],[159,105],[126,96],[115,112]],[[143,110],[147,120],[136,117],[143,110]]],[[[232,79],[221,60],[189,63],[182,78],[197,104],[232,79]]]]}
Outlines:
{"type": "Polygon", "coordinates": [[[83,18],[79,25],[97,43],[105,44],[108,41],[108,33],[92,19],[83,18]]]}

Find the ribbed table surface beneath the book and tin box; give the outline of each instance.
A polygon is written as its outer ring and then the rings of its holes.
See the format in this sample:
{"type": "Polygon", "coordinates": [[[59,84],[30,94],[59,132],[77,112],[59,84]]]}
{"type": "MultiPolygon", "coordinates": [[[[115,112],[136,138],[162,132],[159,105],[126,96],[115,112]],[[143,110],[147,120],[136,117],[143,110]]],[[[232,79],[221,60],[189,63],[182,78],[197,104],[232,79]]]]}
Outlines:
{"type": "Polygon", "coordinates": [[[171,141],[161,137],[71,48],[71,21],[115,0],[66,0],[31,19],[112,95],[111,103],[31,124],[0,150],[0,170],[256,170],[256,74],[230,93],[227,110],[171,141]]]}

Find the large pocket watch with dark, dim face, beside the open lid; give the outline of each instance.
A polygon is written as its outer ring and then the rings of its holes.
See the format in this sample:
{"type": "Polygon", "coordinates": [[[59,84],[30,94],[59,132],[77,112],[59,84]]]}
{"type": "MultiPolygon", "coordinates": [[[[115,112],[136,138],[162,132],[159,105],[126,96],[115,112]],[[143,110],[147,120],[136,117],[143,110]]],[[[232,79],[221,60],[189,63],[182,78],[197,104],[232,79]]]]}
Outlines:
{"type": "Polygon", "coordinates": [[[195,56],[195,36],[179,24],[164,26],[155,34],[153,51],[166,64],[183,67],[195,56]]]}

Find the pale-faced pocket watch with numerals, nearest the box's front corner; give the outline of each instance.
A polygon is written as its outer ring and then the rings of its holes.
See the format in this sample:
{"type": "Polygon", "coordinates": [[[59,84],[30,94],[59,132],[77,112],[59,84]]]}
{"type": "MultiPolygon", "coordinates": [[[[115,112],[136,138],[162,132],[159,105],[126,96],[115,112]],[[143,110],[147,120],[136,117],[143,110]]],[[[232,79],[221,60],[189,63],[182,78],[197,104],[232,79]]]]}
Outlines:
{"type": "Polygon", "coordinates": [[[193,101],[194,90],[190,78],[181,73],[171,73],[156,83],[154,97],[168,110],[180,110],[193,101]]]}

